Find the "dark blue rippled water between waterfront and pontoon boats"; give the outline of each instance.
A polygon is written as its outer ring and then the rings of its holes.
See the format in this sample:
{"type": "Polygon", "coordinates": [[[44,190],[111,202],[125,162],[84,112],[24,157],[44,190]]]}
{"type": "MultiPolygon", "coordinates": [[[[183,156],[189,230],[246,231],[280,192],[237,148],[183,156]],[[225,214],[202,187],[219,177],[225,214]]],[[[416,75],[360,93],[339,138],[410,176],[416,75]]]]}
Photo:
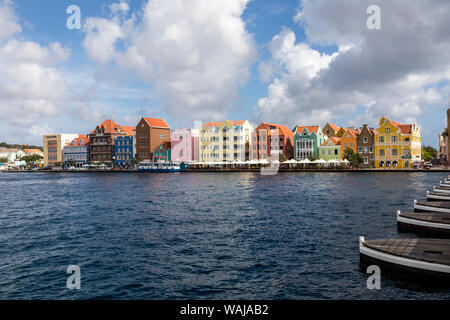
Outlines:
{"type": "Polygon", "coordinates": [[[448,299],[368,290],[358,251],[444,177],[0,173],[0,299],[448,299]]]}

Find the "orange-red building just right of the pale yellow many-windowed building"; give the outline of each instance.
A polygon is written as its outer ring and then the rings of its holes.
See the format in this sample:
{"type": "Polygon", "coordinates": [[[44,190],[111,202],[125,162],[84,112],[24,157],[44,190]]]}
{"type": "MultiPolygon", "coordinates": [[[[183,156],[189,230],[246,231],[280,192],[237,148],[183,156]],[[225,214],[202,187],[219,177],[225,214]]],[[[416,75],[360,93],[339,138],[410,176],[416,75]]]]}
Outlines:
{"type": "Polygon", "coordinates": [[[255,160],[270,159],[274,151],[292,159],[294,133],[284,125],[263,122],[252,132],[251,150],[251,159],[255,160]]]}

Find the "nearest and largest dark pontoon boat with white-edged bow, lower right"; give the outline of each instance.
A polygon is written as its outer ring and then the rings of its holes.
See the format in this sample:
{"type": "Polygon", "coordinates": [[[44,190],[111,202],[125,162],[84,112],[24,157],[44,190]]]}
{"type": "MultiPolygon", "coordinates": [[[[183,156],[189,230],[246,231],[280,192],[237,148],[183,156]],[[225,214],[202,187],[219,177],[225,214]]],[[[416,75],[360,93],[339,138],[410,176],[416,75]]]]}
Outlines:
{"type": "Polygon", "coordinates": [[[383,271],[411,276],[412,280],[450,282],[449,239],[359,240],[361,266],[377,265],[383,271]]]}

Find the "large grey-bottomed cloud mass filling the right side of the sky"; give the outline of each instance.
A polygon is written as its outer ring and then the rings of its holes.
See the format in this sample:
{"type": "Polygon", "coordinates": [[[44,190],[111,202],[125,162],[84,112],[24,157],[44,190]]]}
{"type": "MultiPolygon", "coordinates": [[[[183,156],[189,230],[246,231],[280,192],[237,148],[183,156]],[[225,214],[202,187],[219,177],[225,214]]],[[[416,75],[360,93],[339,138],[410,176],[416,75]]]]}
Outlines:
{"type": "Polygon", "coordinates": [[[258,101],[257,121],[323,124],[348,117],[349,124],[361,125],[389,115],[406,122],[443,103],[440,84],[450,80],[450,22],[444,14],[450,3],[371,4],[381,8],[381,30],[366,27],[364,1],[301,2],[294,21],[307,40],[296,42],[288,29],[272,39],[271,57],[260,65],[262,79],[271,83],[258,101]],[[336,50],[320,55],[315,45],[336,50]],[[354,112],[359,116],[351,119],[354,112]]]}

